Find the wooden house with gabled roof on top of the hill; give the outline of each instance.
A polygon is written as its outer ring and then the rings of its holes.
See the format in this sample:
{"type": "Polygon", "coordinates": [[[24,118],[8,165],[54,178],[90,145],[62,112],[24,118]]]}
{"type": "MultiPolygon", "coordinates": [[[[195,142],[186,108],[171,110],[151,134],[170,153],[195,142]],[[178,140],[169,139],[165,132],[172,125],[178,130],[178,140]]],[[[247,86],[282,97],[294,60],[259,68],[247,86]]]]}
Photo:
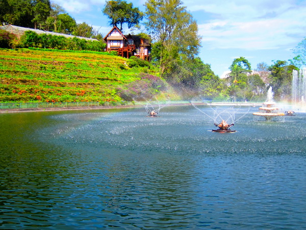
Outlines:
{"type": "Polygon", "coordinates": [[[125,58],[137,56],[149,60],[150,42],[147,39],[138,35],[123,35],[117,27],[113,27],[104,40],[107,43],[107,52],[117,51],[119,56],[125,58]]]}

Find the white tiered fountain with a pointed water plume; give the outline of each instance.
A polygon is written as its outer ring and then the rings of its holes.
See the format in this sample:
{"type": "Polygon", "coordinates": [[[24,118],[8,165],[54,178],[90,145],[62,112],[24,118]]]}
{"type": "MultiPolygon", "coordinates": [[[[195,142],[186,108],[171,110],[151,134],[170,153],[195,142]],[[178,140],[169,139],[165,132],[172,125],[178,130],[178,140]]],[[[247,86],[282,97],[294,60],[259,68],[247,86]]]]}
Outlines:
{"type": "Polygon", "coordinates": [[[260,107],[260,112],[253,112],[253,115],[260,116],[265,119],[265,121],[272,121],[272,118],[284,116],[285,113],[277,112],[278,107],[275,106],[275,102],[273,101],[273,92],[272,87],[270,86],[268,90],[267,101],[263,103],[263,106],[260,107]]]}

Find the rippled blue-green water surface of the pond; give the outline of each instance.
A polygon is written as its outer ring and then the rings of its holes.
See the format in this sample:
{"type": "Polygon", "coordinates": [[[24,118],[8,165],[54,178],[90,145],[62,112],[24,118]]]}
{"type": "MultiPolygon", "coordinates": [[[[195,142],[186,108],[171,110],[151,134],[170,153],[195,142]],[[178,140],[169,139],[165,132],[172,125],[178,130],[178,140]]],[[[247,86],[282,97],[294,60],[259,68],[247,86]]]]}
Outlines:
{"type": "Polygon", "coordinates": [[[234,110],[236,133],[193,106],[0,114],[0,228],[306,228],[306,114],[234,110]]]}

